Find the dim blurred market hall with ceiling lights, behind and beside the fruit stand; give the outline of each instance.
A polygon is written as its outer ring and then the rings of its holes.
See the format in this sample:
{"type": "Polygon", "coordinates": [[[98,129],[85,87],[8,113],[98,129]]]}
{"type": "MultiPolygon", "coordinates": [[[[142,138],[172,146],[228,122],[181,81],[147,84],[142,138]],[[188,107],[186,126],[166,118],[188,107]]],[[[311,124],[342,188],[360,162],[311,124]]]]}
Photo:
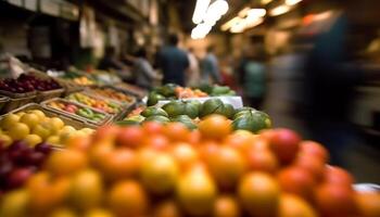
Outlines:
{"type": "Polygon", "coordinates": [[[157,53],[176,35],[186,85],[230,86],[275,127],[325,144],[358,182],[379,183],[379,10],[378,0],[0,0],[0,55],[132,82],[143,58],[156,73],[149,89],[165,79],[157,53]]]}

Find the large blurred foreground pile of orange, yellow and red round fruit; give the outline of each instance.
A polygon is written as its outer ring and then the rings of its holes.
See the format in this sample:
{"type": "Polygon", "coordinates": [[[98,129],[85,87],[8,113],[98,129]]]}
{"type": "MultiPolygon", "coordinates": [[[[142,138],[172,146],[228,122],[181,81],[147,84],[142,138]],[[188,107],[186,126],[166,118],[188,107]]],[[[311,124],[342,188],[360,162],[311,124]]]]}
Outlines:
{"type": "Polygon", "coordinates": [[[180,123],[104,126],[54,152],[0,216],[378,217],[380,195],[326,166],[329,154],[289,129],[233,131],[212,115],[180,123]]]}

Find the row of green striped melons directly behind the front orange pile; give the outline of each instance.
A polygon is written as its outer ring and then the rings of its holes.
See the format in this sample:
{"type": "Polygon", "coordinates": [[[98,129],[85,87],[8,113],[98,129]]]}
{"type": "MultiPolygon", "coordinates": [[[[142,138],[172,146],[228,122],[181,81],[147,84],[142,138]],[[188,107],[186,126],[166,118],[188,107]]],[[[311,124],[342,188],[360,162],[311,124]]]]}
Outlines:
{"type": "Polygon", "coordinates": [[[232,120],[235,130],[244,129],[258,132],[262,129],[271,127],[271,120],[266,113],[252,107],[235,110],[232,105],[223,103],[219,99],[210,99],[204,103],[198,101],[172,101],[162,107],[149,106],[138,112],[117,124],[137,125],[152,120],[160,123],[180,122],[190,129],[194,129],[199,118],[211,114],[219,114],[232,120]]]}

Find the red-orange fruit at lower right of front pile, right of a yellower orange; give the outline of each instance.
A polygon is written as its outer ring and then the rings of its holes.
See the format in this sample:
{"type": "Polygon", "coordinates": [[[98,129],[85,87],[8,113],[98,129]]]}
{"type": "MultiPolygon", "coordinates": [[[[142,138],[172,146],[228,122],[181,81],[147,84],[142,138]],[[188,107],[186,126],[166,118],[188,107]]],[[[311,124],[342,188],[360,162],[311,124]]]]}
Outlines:
{"type": "Polygon", "coordinates": [[[313,175],[300,167],[291,166],[279,171],[277,175],[281,189],[304,199],[311,199],[315,181],[313,175]]]}

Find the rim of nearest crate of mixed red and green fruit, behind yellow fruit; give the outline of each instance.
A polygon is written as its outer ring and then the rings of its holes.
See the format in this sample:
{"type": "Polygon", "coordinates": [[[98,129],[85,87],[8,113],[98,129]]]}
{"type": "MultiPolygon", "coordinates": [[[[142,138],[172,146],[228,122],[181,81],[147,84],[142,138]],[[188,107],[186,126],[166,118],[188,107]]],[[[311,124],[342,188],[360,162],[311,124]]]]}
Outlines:
{"type": "Polygon", "coordinates": [[[77,102],[73,102],[73,101],[68,101],[68,100],[64,100],[64,99],[60,99],[60,98],[54,98],[54,99],[45,101],[45,102],[41,103],[41,105],[42,105],[45,108],[47,108],[47,110],[50,110],[50,111],[53,111],[53,112],[55,112],[55,113],[59,113],[59,114],[62,114],[62,115],[72,117],[72,118],[74,118],[74,119],[78,119],[78,120],[80,120],[80,122],[89,123],[90,125],[101,126],[101,125],[109,124],[109,123],[111,123],[111,120],[112,120],[112,115],[110,115],[110,114],[107,114],[107,113],[104,113],[104,112],[102,112],[102,111],[92,108],[92,107],[90,107],[90,106],[87,106],[87,105],[84,105],[84,104],[80,104],[80,103],[77,103],[77,102]],[[51,103],[51,102],[61,102],[61,103],[74,104],[74,105],[76,105],[77,107],[85,107],[85,108],[91,110],[92,112],[100,113],[100,114],[104,115],[105,117],[104,117],[101,122],[94,122],[94,120],[88,119],[88,118],[86,118],[86,117],[83,117],[83,116],[80,116],[80,115],[77,115],[77,114],[75,114],[75,113],[69,113],[69,112],[66,112],[66,111],[64,111],[64,110],[59,110],[59,108],[52,107],[52,106],[49,105],[49,103],[51,103]]]}

